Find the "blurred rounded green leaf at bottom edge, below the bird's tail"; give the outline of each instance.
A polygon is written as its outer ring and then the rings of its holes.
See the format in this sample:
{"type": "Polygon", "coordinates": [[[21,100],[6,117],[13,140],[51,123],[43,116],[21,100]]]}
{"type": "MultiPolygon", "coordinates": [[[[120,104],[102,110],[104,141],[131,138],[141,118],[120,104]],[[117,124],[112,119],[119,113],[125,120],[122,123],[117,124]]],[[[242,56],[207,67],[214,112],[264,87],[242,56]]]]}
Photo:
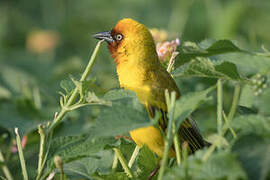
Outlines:
{"type": "Polygon", "coordinates": [[[206,162],[201,161],[205,151],[196,152],[188,158],[188,174],[185,174],[183,163],[168,171],[164,180],[174,179],[246,179],[245,172],[241,168],[233,154],[228,152],[213,153],[206,162]]]}

